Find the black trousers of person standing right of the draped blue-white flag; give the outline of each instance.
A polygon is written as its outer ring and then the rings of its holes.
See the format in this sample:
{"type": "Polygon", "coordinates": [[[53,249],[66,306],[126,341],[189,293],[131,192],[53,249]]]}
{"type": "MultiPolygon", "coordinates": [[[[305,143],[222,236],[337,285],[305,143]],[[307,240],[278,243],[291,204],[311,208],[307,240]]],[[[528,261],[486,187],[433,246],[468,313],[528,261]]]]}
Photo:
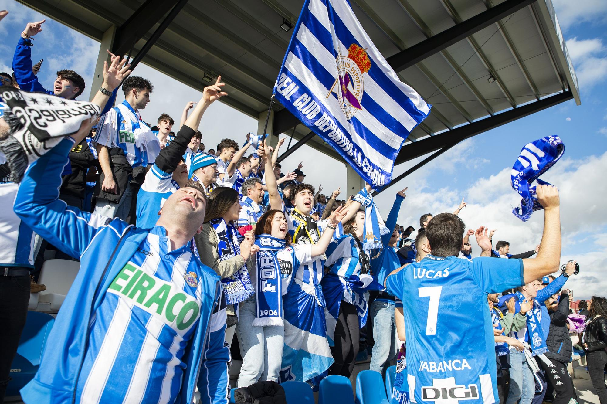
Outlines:
{"type": "Polygon", "coordinates": [[[356,306],[342,301],[335,326],[335,346],[331,346],[335,362],[329,368],[329,374],[350,377],[358,355],[360,331],[356,306]]]}

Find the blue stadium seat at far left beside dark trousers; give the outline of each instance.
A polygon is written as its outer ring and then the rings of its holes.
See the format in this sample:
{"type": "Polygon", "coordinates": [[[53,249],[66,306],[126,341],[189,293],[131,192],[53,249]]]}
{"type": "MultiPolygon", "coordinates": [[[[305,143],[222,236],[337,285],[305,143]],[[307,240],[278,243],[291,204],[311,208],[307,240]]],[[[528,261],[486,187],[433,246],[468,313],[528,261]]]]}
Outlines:
{"type": "Polygon", "coordinates": [[[33,379],[40,366],[42,352],[53,323],[55,318],[50,314],[27,312],[25,327],[19,339],[19,348],[10,366],[10,377],[13,380],[8,382],[6,397],[18,396],[19,390],[33,379]]]}

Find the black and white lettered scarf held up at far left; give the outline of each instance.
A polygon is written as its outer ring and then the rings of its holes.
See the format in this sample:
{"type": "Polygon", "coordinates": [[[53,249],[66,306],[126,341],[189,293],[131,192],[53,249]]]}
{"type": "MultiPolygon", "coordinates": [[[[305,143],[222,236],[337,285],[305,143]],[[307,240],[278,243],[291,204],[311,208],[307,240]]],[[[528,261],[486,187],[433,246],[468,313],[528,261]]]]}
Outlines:
{"type": "Polygon", "coordinates": [[[0,141],[10,181],[21,182],[25,169],[65,136],[80,130],[86,120],[99,116],[99,106],[44,93],[28,93],[12,86],[0,87],[4,120],[11,135],[0,141]]]}

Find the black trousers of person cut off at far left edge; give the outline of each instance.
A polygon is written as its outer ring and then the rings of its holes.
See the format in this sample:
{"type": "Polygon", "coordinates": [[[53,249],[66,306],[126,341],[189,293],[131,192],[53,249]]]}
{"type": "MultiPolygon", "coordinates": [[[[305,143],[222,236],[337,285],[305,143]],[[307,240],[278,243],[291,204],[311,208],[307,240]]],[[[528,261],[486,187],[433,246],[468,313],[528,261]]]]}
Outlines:
{"type": "Polygon", "coordinates": [[[27,318],[30,277],[0,276],[0,403],[10,380],[10,365],[17,353],[27,318]]]}

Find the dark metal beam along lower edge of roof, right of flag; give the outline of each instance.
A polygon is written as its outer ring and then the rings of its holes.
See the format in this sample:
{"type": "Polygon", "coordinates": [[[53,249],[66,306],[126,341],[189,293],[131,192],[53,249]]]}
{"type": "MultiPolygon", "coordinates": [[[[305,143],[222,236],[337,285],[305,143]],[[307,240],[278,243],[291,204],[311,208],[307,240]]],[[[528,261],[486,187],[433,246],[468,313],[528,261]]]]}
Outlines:
{"type": "Polygon", "coordinates": [[[497,115],[490,116],[489,118],[484,118],[483,120],[478,120],[471,124],[449,130],[449,132],[418,140],[413,144],[408,144],[407,146],[402,147],[401,152],[398,153],[398,156],[396,157],[395,164],[413,160],[414,158],[421,157],[427,153],[441,149],[446,144],[451,144],[454,142],[458,143],[462,140],[466,140],[467,138],[478,135],[479,133],[483,133],[487,130],[518,120],[519,118],[523,118],[524,116],[531,115],[532,113],[555,106],[556,104],[563,103],[564,101],[568,101],[572,98],[573,94],[571,90],[567,90],[566,92],[540,99],[540,101],[535,101],[534,103],[529,103],[522,107],[510,109],[505,112],[498,113],[497,115]]]}

